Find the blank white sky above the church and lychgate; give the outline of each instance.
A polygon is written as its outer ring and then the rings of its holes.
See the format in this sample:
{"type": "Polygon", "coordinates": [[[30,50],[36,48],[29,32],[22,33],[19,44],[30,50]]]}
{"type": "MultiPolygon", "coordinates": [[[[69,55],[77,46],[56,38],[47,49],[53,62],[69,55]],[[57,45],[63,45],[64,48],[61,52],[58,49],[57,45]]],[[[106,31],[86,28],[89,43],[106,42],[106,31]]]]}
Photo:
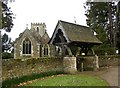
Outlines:
{"type": "Polygon", "coordinates": [[[84,4],[86,0],[15,0],[9,3],[15,14],[9,37],[15,40],[31,23],[45,23],[51,37],[58,20],[86,26],[84,4]]]}

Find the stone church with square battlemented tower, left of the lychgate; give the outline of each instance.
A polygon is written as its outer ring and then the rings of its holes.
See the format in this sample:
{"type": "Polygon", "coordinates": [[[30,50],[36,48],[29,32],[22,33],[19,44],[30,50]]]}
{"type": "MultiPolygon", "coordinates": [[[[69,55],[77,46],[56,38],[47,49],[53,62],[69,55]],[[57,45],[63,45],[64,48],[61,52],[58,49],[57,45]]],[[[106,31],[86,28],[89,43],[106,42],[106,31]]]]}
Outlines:
{"type": "MultiPolygon", "coordinates": [[[[45,23],[31,23],[14,43],[14,58],[39,58],[51,55],[45,23]]],[[[52,50],[51,50],[52,51],[52,50]]]]}

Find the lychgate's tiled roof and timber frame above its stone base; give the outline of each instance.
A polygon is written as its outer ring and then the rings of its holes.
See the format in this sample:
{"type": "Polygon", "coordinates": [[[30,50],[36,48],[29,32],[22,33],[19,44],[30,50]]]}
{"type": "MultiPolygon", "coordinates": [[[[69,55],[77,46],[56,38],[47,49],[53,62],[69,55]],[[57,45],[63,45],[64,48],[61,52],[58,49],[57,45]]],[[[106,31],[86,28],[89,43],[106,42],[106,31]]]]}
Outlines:
{"type": "Polygon", "coordinates": [[[59,20],[49,43],[59,46],[64,57],[88,55],[89,51],[95,55],[92,46],[102,42],[88,27],[59,20]],[[77,54],[73,54],[71,47],[77,47],[77,54]]]}

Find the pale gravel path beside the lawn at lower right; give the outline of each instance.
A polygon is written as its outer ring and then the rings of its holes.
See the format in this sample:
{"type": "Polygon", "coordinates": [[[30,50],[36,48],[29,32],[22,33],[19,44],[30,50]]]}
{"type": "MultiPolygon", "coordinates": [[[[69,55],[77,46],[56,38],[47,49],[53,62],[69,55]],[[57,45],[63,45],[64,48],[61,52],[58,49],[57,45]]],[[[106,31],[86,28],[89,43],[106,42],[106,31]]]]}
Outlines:
{"type": "Polygon", "coordinates": [[[120,67],[109,67],[100,71],[84,71],[82,74],[99,76],[106,80],[110,86],[119,86],[120,88],[120,67]]]}

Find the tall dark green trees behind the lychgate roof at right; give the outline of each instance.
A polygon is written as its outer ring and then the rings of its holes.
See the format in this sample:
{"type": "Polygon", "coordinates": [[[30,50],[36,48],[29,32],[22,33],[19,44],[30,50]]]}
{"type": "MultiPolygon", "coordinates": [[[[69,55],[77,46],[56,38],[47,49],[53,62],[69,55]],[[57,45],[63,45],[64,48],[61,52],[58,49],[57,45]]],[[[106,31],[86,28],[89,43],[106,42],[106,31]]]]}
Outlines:
{"type": "Polygon", "coordinates": [[[117,32],[115,2],[86,2],[85,8],[87,25],[97,32],[97,37],[103,42],[101,46],[98,46],[99,49],[104,50],[104,53],[109,49],[115,50],[117,32]]]}

